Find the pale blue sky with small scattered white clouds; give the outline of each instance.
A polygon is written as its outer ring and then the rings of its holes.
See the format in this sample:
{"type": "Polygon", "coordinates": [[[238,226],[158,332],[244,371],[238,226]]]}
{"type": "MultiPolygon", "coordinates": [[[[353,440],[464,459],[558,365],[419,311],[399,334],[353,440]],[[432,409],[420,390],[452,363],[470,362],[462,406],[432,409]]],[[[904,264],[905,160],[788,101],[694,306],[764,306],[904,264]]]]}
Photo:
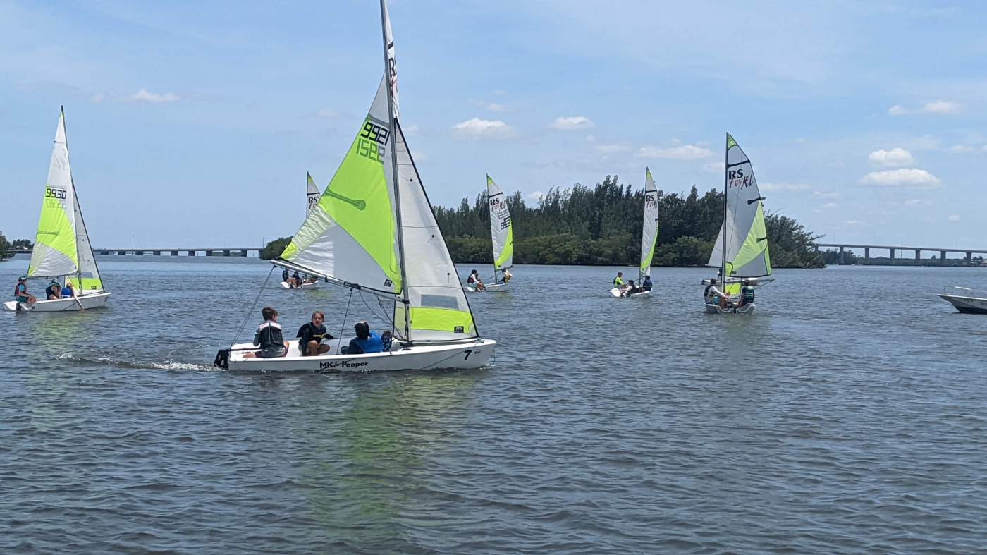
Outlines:
{"type": "MultiPolygon", "coordinates": [[[[985,248],[987,4],[395,0],[433,204],[607,175],[722,187],[825,242],[985,248]],[[701,4],[701,5],[700,5],[701,4]]],[[[329,183],[383,73],[378,3],[0,0],[0,232],[33,238],[64,105],[97,247],[260,246],[329,183]]]]}

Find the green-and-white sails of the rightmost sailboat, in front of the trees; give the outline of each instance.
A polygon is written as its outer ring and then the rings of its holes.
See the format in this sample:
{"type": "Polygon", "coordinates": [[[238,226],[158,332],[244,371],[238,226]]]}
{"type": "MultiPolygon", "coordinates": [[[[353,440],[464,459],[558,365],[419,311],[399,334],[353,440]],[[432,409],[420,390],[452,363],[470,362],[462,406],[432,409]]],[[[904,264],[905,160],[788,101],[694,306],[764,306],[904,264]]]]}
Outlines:
{"type": "Polygon", "coordinates": [[[726,277],[770,276],[771,256],[768,252],[768,230],[764,223],[764,198],[757,188],[750,159],[729,133],[726,134],[724,172],[725,219],[713,246],[709,266],[725,267],[726,277]]]}

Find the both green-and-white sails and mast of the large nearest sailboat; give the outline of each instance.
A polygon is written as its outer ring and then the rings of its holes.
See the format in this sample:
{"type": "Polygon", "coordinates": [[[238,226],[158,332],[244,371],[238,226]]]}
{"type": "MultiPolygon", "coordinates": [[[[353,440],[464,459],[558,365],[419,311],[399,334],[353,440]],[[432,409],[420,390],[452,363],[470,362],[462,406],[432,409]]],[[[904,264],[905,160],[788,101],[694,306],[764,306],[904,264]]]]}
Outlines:
{"type": "Polygon", "coordinates": [[[386,66],[370,111],[277,262],[394,299],[394,327],[407,341],[476,338],[473,313],[401,130],[383,1],[381,14],[386,66]]]}

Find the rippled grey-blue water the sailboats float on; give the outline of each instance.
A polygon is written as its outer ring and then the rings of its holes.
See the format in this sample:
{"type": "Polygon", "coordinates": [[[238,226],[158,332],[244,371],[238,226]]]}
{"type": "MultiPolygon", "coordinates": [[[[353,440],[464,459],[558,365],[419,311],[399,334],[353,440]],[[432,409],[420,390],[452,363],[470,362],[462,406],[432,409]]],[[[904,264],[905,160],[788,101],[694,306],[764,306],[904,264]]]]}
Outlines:
{"type": "MultiPolygon", "coordinates": [[[[208,365],[265,263],[100,264],[108,309],[0,313],[0,552],[985,552],[987,316],[934,296],[982,271],[779,271],[719,317],[709,271],[518,267],[469,297],[489,368],[271,376],[208,365]]],[[[341,326],[278,278],[285,330],[341,326]]]]}

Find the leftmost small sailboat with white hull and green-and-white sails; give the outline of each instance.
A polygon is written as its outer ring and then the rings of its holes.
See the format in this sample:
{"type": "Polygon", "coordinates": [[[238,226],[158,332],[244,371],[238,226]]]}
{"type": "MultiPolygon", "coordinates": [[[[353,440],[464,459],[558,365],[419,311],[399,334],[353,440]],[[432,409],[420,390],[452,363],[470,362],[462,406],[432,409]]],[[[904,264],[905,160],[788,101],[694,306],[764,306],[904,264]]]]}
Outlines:
{"type": "Polygon", "coordinates": [[[63,312],[103,306],[110,299],[110,292],[103,290],[96,257],[89,244],[86,222],[72,181],[68,163],[68,142],[65,138],[65,109],[58,114],[54,149],[48,165],[48,179],[44,184],[44,200],[38,218],[38,234],[31,252],[27,277],[54,279],[60,284],[71,282],[76,296],[38,302],[9,301],[5,310],[34,310],[36,312],[63,312]],[[19,306],[20,305],[20,306],[19,306]]]}

